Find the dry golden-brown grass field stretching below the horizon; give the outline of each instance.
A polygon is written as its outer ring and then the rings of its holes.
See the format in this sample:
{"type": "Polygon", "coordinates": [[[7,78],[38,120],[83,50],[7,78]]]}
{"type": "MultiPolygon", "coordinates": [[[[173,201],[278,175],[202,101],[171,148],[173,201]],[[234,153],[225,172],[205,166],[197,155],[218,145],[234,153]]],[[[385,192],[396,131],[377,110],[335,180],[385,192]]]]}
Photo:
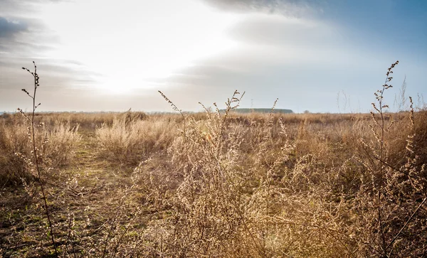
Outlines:
{"type": "Polygon", "coordinates": [[[384,91],[373,114],[236,114],[235,92],[226,112],[3,115],[0,254],[426,257],[427,111],[386,114],[384,91]]]}

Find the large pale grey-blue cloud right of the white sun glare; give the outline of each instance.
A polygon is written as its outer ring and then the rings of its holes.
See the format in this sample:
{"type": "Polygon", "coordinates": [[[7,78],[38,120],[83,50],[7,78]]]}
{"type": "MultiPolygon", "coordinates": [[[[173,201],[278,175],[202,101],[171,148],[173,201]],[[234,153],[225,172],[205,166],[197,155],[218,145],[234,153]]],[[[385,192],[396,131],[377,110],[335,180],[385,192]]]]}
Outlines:
{"type": "Polygon", "coordinates": [[[334,111],[343,87],[355,102],[358,97],[371,101],[369,86],[383,72],[376,70],[384,66],[379,60],[386,60],[351,45],[332,24],[307,18],[244,14],[228,37],[238,42],[236,48],[162,81],[170,85],[164,93],[179,100],[180,108],[197,109],[196,100],[221,103],[240,90],[246,91],[242,107],[251,107],[251,100],[254,107],[270,107],[278,97],[279,108],[334,111]]]}

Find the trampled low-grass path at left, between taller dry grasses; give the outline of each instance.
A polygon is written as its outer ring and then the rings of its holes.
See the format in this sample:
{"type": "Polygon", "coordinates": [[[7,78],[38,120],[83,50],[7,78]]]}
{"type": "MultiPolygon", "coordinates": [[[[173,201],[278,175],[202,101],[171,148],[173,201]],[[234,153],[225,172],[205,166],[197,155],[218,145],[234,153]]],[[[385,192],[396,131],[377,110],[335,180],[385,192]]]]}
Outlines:
{"type": "MultiPolygon", "coordinates": [[[[46,178],[48,208],[58,245],[73,242],[75,252],[102,242],[105,230],[122,209],[125,189],[132,183],[130,169],[105,161],[97,155],[95,131],[81,130],[81,141],[73,163],[54,169],[46,178]],[[73,225],[73,234],[70,231],[73,225]],[[70,238],[72,236],[72,239],[70,238]],[[95,238],[97,237],[97,238],[95,238]]],[[[2,257],[49,257],[40,250],[51,246],[46,213],[40,188],[28,187],[1,190],[0,254],[2,257]]]]}

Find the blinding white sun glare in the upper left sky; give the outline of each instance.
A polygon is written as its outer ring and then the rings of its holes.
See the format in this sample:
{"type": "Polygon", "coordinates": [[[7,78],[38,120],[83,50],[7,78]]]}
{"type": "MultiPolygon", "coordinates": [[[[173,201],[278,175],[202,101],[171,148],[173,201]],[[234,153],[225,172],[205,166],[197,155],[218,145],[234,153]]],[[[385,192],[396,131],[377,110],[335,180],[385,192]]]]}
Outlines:
{"type": "Polygon", "coordinates": [[[220,13],[200,1],[184,1],[50,4],[41,17],[56,31],[60,48],[49,55],[80,60],[102,74],[100,87],[117,94],[150,87],[144,79],[167,77],[236,45],[225,36],[238,21],[236,14],[220,13]]]}

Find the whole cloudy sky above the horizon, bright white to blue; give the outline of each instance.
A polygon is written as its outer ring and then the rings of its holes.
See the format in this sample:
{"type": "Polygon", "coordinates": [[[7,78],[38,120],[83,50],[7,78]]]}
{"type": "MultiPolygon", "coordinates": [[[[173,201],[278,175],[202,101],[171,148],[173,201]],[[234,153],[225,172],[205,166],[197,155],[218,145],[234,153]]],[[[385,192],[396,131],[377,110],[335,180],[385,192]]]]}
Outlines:
{"type": "MultiPolygon", "coordinates": [[[[172,112],[199,102],[369,112],[427,97],[427,1],[0,0],[0,111],[172,112]],[[418,97],[419,96],[419,97],[418,97]]],[[[419,100],[419,101],[418,101],[419,100]]]]}

